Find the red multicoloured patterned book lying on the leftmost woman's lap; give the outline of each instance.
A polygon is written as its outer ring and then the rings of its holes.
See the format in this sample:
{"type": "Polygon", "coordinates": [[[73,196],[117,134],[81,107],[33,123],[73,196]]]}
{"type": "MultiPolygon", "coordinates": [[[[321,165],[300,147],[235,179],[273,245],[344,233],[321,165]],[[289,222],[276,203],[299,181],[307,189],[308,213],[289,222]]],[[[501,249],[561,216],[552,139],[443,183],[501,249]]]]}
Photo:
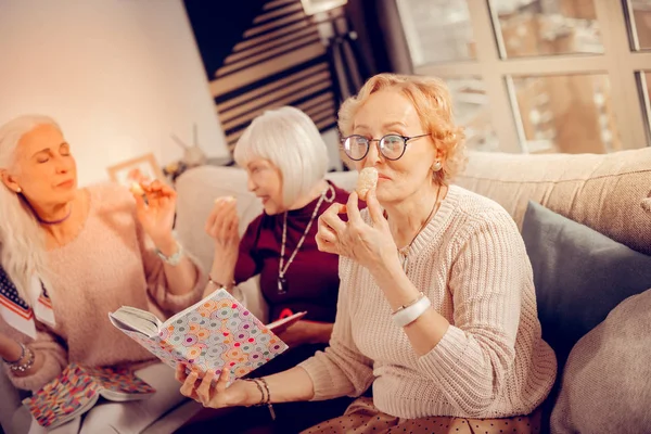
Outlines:
{"type": "Polygon", "coordinates": [[[143,399],[155,392],[128,369],[71,363],[23,404],[41,426],[55,427],[90,410],[100,396],[123,401],[143,399]]]}

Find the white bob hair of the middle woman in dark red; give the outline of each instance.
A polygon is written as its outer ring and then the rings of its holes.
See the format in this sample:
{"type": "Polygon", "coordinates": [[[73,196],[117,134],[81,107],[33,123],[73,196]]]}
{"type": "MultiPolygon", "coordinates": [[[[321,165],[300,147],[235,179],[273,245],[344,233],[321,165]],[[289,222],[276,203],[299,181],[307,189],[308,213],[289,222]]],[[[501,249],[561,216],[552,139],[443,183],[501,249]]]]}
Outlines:
{"type": "Polygon", "coordinates": [[[253,119],[238,140],[234,158],[245,167],[264,158],[282,176],[282,196],[286,207],[305,196],[328,171],[328,148],[308,115],[284,106],[253,119]]]}

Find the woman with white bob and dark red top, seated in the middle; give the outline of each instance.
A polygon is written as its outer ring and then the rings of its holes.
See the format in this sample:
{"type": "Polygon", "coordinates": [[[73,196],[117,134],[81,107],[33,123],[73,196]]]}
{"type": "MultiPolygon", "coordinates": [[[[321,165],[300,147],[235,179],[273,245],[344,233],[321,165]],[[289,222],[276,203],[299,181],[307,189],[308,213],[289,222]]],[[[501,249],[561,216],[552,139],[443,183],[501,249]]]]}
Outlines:
{"type": "MultiPolygon", "coordinates": [[[[234,201],[217,201],[206,224],[215,239],[212,290],[224,285],[233,291],[259,275],[270,320],[307,311],[279,334],[290,349],[255,371],[264,375],[292,368],[328,346],[336,316],[339,257],[319,252],[315,235],[319,216],[333,203],[345,203],[348,192],[324,179],[326,143],[298,108],[285,106],[254,119],[238,141],[234,158],[246,170],[248,190],[260,199],[264,213],[240,239],[234,201]]],[[[348,404],[342,398],[278,406],[273,429],[297,432],[341,413],[348,404]]],[[[266,408],[246,409],[219,418],[215,426],[242,433],[269,421],[266,408]]]]}

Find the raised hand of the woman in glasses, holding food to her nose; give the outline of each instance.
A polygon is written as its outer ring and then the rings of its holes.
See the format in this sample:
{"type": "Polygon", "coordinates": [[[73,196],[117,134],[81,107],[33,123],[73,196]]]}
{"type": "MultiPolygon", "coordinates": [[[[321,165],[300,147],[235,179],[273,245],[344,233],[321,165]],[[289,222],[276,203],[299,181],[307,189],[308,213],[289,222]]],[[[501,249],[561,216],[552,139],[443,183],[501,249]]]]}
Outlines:
{"type": "Polygon", "coordinates": [[[378,267],[386,268],[391,261],[398,261],[398,255],[384,210],[375,197],[375,189],[368,192],[367,207],[371,225],[361,218],[356,192],[350,193],[346,205],[332,204],[319,217],[316,240],[321,252],[349,257],[373,271],[378,267]],[[348,221],[340,218],[342,213],[347,213],[348,221]]]}

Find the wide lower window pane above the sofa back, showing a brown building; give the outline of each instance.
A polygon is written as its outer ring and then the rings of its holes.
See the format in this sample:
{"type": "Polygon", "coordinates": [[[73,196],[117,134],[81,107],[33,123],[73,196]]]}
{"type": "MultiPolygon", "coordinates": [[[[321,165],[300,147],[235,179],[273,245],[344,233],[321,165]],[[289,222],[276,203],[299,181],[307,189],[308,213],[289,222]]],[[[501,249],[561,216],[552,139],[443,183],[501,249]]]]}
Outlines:
{"type": "Polygon", "coordinates": [[[622,149],[607,74],[513,77],[532,153],[605,153],[622,149]]]}

